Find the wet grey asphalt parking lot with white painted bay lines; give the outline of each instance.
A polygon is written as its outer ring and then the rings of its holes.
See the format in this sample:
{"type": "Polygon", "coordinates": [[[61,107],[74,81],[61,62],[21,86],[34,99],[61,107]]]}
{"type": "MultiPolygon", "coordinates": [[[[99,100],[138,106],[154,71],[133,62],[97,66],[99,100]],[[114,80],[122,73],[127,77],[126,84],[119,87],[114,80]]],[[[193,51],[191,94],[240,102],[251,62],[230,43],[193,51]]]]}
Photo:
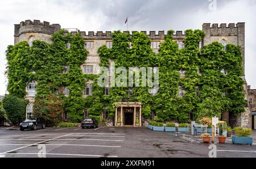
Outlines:
{"type": "MultiPolygon", "coordinates": [[[[218,144],[217,157],[256,157],[256,145],[218,144]]],[[[209,145],[189,133],[147,128],[0,128],[0,157],[209,157],[209,145]],[[46,151],[44,151],[46,150],[46,151]]]]}

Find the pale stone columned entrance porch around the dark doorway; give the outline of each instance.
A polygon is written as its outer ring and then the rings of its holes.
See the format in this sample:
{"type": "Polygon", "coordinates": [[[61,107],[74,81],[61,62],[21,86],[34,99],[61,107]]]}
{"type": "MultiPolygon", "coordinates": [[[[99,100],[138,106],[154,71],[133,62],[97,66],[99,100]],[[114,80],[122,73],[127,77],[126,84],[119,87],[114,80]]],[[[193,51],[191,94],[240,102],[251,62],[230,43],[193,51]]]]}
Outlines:
{"type": "Polygon", "coordinates": [[[117,120],[121,119],[120,126],[136,126],[136,119],[139,119],[139,126],[141,126],[141,105],[139,102],[118,102],[115,103],[115,126],[117,120]]]}

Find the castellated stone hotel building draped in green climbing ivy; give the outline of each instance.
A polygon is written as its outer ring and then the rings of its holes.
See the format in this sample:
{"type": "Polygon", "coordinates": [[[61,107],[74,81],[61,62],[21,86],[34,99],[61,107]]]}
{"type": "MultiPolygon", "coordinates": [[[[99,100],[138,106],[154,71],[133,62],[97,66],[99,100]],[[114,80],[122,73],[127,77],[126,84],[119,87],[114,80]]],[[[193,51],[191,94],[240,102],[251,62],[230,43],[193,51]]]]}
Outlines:
{"type": "Polygon", "coordinates": [[[7,90],[30,100],[27,117],[49,123],[93,116],[143,125],[154,117],[189,122],[217,116],[249,127],[244,51],[244,23],[147,35],[69,32],[26,20],[15,25],[15,45],[6,50],[7,90]],[[149,87],[100,87],[103,66],[159,67],[159,90],[151,95],[149,87]]]}

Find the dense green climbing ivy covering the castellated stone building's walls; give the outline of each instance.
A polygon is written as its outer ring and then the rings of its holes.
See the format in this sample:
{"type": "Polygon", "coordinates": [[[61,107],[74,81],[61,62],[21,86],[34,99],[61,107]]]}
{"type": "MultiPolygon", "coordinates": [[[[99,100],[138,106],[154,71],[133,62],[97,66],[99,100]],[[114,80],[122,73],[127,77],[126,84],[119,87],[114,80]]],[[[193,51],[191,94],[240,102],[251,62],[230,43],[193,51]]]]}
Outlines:
{"type": "Polygon", "coordinates": [[[147,35],[140,32],[130,35],[115,31],[112,33],[112,49],[105,45],[98,49],[100,66],[109,66],[109,61],[113,60],[115,69],[119,66],[159,67],[156,95],[148,93],[149,87],[134,87],[131,95],[127,94],[128,87],[111,87],[109,95],[104,95],[104,87],[97,84],[101,74],[82,74],[81,65],[88,54],[84,49],[84,39],[80,33],[71,36],[63,30],[52,36],[51,44],[35,40],[32,47],[28,47],[23,41],[7,48],[7,90],[11,95],[23,98],[27,82],[35,80],[35,115],[45,116],[53,123],[61,119],[63,112],[67,112],[72,121],[80,121],[84,108],[89,108],[91,116],[98,117],[102,108],[107,107],[111,118],[114,104],[122,101],[141,102],[143,117],[148,118],[151,112],[155,112],[160,121],[187,122],[192,117],[221,117],[222,112],[243,112],[246,101],[243,97],[244,82],[240,77],[241,48],[228,44],[224,50],[220,43],[213,42],[199,49],[204,33],[188,29],[185,31],[185,48],[179,49],[173,33],[172,30],[167,32],[158,53],[151,49],[147,35]],[[67,48],[67,43],[70,48],[67,48]],[[68,66],[68,73],[63,73],[64,65],[68,66]],[[228,74],[221,73],[222,69],[228,74]],[[185,70],[184,77],[181,77],[180,70],[185,70]],[[93,81],[93,94],[82,98],[89,81],[93,81]],[[182,97],[178,96],[179,86],[185,90],[182,97]],[[68,97],[61,94],[63,87],[69,89],[68,97]],[[57,91],[60,91],[59,95],[57,91]]]}

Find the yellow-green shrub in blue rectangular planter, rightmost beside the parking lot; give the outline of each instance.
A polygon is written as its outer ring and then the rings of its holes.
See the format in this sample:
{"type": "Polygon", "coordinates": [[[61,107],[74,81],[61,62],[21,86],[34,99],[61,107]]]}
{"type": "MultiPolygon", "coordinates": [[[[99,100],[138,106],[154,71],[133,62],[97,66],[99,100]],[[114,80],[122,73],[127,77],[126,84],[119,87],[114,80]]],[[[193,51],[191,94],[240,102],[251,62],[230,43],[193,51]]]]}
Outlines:
{"type": "Polygon", "coordinates": [[[253,137],[251,135],[251,129],[244,129],[242,127],[234,128],[236,136],[232,136],[232,143],[253,145],[253,137]]]}

